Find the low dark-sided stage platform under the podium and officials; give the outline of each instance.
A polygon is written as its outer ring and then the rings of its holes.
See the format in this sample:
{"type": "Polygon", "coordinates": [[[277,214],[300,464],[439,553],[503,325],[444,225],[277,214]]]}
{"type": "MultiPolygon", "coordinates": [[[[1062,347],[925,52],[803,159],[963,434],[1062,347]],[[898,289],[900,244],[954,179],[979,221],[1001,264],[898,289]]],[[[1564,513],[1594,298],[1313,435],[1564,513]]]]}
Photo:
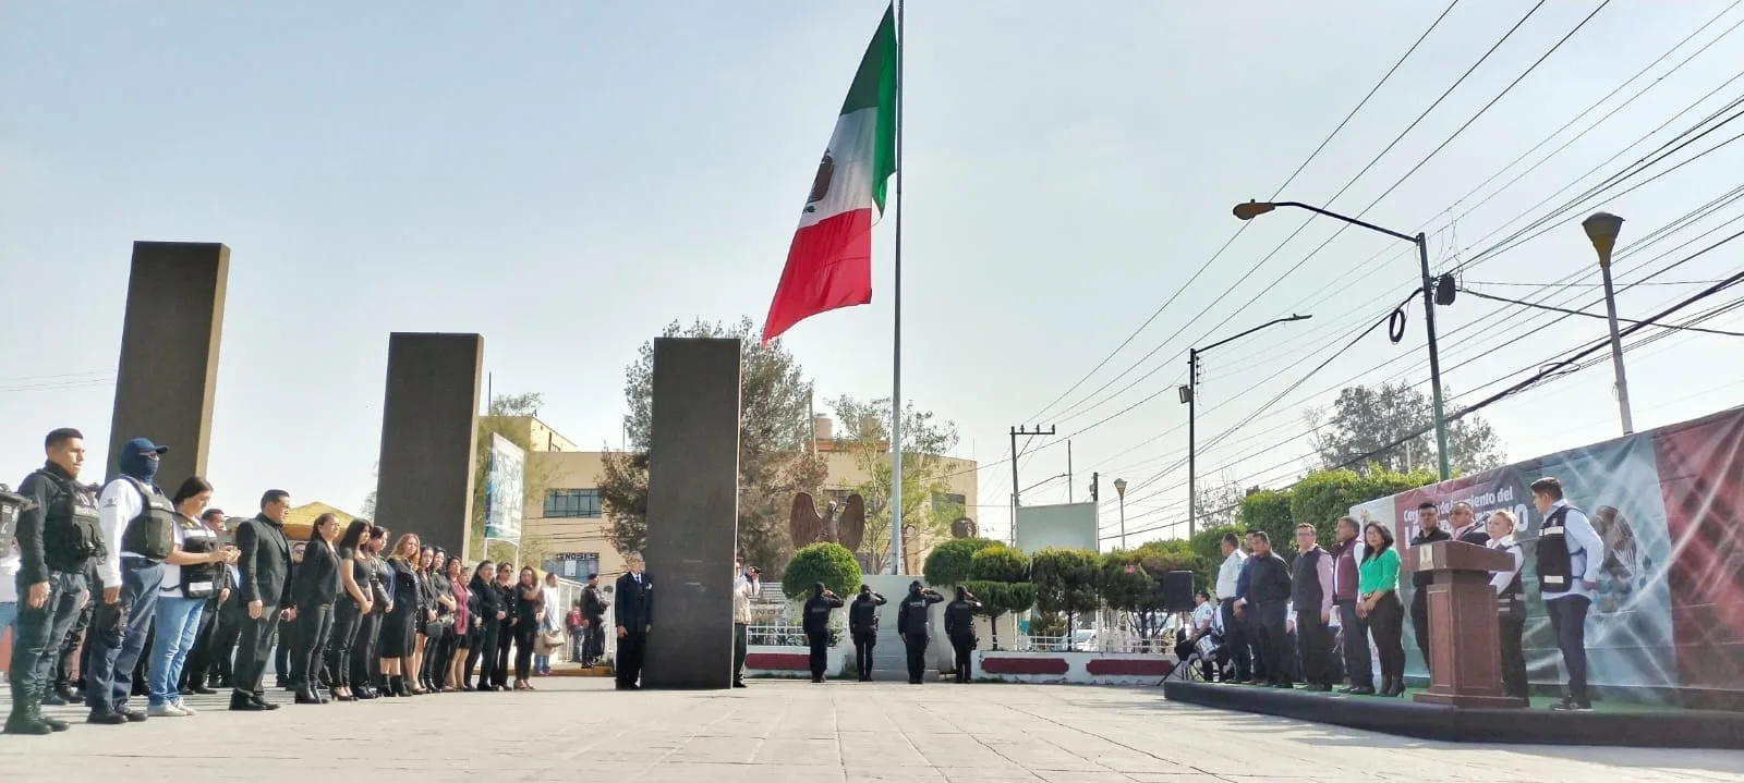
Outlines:
{"type": "Polygon", "coordinates": [[[1385,699],[1186,680],[1165,682],[1163,696],[1219,710],[1454,743],[1744,750],[1744,713],[1734,712],[1601,703],[1592,712],[1557,713],[1547,710],[1549,699],[1535,699],[1524,710],[1461,710],[1420,705],[1409,692],[1385,699]]]}

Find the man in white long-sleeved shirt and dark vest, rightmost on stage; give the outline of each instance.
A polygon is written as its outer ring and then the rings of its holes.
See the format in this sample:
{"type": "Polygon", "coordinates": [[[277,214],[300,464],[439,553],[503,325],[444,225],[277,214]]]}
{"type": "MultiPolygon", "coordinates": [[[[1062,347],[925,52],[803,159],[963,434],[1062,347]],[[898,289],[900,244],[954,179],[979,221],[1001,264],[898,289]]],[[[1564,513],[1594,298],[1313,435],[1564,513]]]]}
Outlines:
{"type": "Polygon", "coordinates": [[[1568,670],[1568,696],[1550,710],[1587,712],[1592,710],[1587,694],[1587,609],[1592,591],[1599,588],[1604,541],[1587,514],[1563,499],[1563,481],[1533,481],[1531,499],[1543,514],[1543,527],[1538,528],[1538,593],[1568,670]]]}

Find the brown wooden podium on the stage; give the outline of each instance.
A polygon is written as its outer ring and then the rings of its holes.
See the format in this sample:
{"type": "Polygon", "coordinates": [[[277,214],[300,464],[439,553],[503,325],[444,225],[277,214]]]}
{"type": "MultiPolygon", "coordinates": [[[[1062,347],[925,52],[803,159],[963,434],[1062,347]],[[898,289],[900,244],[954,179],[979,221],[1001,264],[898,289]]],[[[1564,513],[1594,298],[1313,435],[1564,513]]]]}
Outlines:
{"type": "Polygon", "coordinates": [[[1449,706],[1526,706],[1502,692],[1502,642],[1491,572],[1514,558],[1463,541],[1437,541],[1404,553],[1404,570],[1435,575],[1428,589],[1430,684],[1414,701],[1449,706]]]}

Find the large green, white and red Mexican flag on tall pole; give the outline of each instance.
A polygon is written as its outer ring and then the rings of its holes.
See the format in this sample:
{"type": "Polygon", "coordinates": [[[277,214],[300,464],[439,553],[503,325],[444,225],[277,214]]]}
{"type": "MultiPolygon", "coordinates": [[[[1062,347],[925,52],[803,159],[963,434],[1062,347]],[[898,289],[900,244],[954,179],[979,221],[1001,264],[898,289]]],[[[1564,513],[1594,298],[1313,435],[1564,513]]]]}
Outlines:
{"type": "Polygon", "coordinates": [[[872,223],[895,171],[896,16],[884,9],[800,211],[764,344],[820,312],[872,302],[872,223]]]}

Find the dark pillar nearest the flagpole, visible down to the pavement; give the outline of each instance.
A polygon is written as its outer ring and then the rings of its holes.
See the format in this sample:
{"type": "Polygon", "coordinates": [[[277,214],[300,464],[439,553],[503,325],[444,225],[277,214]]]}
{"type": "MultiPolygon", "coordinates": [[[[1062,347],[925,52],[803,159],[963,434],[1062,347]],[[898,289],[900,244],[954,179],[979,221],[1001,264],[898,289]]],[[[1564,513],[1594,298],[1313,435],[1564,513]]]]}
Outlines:
{"type": "Polygon", "coordinates": [[[642,682],[732,685],[739,342],[654,340],[647,569],[659,588],[642,682]]]}

